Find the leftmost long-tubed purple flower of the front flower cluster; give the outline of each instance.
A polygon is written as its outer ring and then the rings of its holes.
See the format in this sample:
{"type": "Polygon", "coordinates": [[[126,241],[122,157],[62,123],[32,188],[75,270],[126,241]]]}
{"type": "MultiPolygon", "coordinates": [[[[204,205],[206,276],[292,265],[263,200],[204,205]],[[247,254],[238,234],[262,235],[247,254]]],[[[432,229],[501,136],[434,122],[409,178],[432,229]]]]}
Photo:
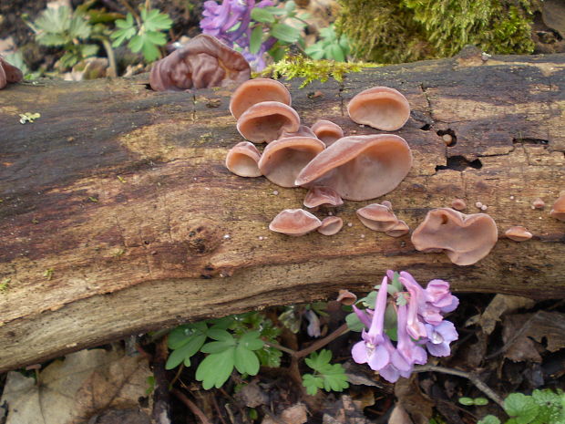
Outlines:
{"type": "Polygon", "coordinates": [[[361,333],[363,340],[355,343],[351,350],[351,355],[357,364],[368,364],[375,371],[385,367],[391,357],[389,349],[385,346],[386,341],[390,343],[390,339],[384,334],[387,284],[388,280],[385,277],[376,295],[375,311],[369,331],[363,329],[361,333]]]}

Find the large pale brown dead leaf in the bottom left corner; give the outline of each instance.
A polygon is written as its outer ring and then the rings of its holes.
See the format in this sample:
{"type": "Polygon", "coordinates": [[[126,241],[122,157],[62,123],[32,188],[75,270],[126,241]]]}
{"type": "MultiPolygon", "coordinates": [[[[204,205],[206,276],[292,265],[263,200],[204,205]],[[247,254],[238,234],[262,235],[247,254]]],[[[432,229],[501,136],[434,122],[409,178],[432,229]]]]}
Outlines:
{"type": "Polygon", "coordinates": [[[56,360],[34,378],[8,373],[0,404],[5,424],[78,424],[106,408],[138,408],[147,396],[147,359],[123,352],[81,350],[56,360]]]}

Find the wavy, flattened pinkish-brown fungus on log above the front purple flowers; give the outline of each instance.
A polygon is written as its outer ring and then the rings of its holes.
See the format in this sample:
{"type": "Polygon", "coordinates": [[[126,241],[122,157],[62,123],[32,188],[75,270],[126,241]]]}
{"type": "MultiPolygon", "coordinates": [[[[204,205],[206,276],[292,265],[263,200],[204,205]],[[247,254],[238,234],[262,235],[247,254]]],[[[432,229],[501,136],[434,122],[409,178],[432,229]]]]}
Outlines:
{"type": "Polygon", "coordinates": [[[477,263],[488,255],[497,240],[497,224],[486,213],[466,215],[450,208],[427,212],[424,222],[412,233],[417,250],[444,250],[457,265],[477,263]]]}

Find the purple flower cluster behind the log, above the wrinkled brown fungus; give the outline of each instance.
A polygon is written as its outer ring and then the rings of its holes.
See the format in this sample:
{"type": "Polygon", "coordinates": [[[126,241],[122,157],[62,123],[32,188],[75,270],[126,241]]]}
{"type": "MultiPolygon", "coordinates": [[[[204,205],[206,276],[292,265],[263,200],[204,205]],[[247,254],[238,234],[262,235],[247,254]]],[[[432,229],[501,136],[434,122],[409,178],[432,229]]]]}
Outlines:
{"type": "Polygon", "coordinates": [[[200,21],[202,34],[215,36],[231,48],[241,50],[243,57],[257,71],[265,67],[263,56],[269,50],[276,38],[267,38],[259,48],[259,51],[250,51],[250,40],[252,35],[252,9],[253,7],[272,6],[271,0],[223,0],[221,5],[215,1],[204,2],[204,18],[200,21]]]}

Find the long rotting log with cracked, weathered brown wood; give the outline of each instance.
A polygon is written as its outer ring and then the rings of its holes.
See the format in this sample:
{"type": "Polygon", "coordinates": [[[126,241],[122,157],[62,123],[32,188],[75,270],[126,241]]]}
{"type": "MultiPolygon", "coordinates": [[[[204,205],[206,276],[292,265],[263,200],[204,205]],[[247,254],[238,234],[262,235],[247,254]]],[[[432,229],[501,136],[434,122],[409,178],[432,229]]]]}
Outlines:
{"type": "Polygon", "coordinates": [[[488,205],[500,234],[534,233],[464,267],[365,228],[354,211],[370,202],[339,207],[346,225],[332,237],[270,233],[305,191],[224,168],[241,141],[231,90],[157,93],[147,78],[0,91],[0,371],[188,320],[367,291],[387,269],[457,292],[565,294],[565,222],[549,215],[565,189],[564,55],[467,55],[290,83],[304,123],[330,119],[345,134],[376,132],[347,118],[357,92],[406,95],[412,116],[396,133],[415,164],[379,200],[412,229],[462,198],[466,212],[488,205]],[[41,118],[22,125],[26,112],[41,118]],[[545,210],[532,210],[536,198],[545,210]]]}

